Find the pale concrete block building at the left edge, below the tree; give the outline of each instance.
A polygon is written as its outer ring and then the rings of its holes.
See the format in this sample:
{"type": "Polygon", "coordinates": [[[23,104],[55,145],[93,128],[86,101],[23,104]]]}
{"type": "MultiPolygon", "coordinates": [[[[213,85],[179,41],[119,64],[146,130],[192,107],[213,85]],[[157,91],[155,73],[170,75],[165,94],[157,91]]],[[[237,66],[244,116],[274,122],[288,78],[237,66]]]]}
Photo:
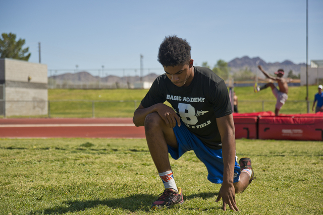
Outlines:
{"type": "Polygon", "coordinates": [[[0,58],[0,115],[48,114],[47,65],[0,58]]]}

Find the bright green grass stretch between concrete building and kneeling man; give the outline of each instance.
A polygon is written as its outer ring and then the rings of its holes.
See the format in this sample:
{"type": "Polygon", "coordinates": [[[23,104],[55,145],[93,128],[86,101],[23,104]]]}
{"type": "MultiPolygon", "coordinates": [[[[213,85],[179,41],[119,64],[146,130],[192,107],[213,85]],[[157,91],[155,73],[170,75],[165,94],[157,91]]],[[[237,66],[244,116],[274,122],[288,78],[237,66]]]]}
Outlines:
{"type": "MultiPolygon", "coordinates": [[[[49,89],[48,99],[88,100],[94,103],[94,117],[133,117],[148,90],[69,90],[49,89]],[[137,100],[135,103],[134,100],[137,100]],[[109,102],[105,102],[109,101],[109,102]],[[124,101],[124,102],[120,102],[124,101]]],[[[92,102],[51,102],[51,117],[92,117],[92,102]]]]}

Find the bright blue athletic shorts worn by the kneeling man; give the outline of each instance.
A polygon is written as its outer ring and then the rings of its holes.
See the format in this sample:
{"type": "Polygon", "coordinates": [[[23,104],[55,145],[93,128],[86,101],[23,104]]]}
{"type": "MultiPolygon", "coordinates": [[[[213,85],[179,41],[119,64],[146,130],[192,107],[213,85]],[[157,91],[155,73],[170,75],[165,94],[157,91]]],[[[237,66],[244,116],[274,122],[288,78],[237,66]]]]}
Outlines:
{"type": "MultiPolygon", "coordinates": [[[[222,149],[214,150],[208,148],[203,142],[191,133],[185,124],[181,121],[181,126],[173,128],[177,138],[177,149],[168,146],[168,152],[173,159],[179,159],[184,153],[193,150],[196,157],[205,165],[208,175],[207,180],[215,184],[222,184],[223,182],[223,159],[222,149]]],[[[237,156],[234,167],[233,182],[239,181],[240,166],[237,162],[237,156]]]]}

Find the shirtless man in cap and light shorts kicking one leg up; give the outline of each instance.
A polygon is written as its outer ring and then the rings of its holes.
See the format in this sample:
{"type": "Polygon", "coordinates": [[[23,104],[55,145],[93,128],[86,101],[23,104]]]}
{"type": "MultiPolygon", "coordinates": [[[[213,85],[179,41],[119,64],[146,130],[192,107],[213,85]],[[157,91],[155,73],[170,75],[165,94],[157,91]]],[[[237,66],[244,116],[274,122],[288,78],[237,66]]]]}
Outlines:
{"type": "Polygon", "coordinates": [[[286,79],[283,78],[284,76],[284,70],[278,69],[278,71],[275,72],[277,77],[270,76],[267,74],[261,67],[261,65],[258,65],[258,68],[260,71],[262,71],[263,75],[267,77],[268,79],[272,79],[274,81],[277,81],[279,90],[275,87],[273,83],[267,83],[261,87],[254,86],[254,92],[257,93],[260,90],[266,89],[267,87],[271,87],[274,96],[277,99],[276,108],[275,108],[275,115],[279,116],[279,111],[282,108],[282,106],[285,104],[286,100],[288,99],[288,84],[286,79]]]}

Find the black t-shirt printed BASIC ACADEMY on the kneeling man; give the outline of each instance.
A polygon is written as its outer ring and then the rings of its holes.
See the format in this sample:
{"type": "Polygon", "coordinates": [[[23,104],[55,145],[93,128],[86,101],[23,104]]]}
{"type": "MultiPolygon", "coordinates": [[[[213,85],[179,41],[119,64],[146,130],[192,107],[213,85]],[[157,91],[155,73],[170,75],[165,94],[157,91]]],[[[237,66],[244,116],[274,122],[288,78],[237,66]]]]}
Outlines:
{"type": "Polygon", "coordinates": [[[206,146],[222,148],[216,118],[231,114],[232,107],[225,82],[212,70],[194,67],[194,77],[188,87],[177,87],[166,74],[157,77],[141,104],[147,108],[165,101],[206,146]]]}

